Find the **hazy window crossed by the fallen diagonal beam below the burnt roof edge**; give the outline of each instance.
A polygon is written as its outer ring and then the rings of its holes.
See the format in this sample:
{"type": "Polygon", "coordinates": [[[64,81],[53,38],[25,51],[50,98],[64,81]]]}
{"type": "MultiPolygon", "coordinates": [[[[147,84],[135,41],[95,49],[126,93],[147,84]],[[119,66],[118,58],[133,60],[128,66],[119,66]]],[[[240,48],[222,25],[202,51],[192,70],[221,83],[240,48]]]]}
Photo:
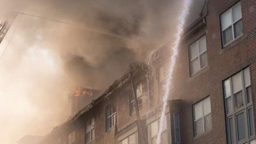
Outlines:
{"type": "MultiPolygon", "coordinates": [[[[139,84],[137,84],[135,86],[135,94],[137,97],[138,106],[139,106],[139,108],[141,108],[142,107],[142,95],[143,95],[142,82],[140,82],[139,84]]],[[[132,115],[133,113],[135,113],[135,100],[134,100],[133,94],[130,94],[130,114],[132,115]]]]}

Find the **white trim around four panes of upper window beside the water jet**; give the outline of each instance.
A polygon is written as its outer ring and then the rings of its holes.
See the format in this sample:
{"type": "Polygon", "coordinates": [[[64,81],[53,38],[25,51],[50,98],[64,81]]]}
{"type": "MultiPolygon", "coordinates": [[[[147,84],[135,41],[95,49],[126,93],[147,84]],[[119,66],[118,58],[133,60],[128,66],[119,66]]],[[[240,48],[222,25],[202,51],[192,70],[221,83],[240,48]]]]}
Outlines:
{"type": "Polygon", "coordinates": [[[197,39],[197,41],[196,42],[194,42],[193,44],[191,44],[191,45],[189,45],[189,66],[190,66],[190,75],[191,76],[193,76],[193,75],[195,75],[196,73],[198,73],[200,70],[202,70],[202,69],[204,69],[205,67],[207,67],[208,66],[208,55],[207,55],[207,39],[206,39],[206,35],[204,35],[204,36],[202,36],[202,37],[200,37],[199,39],[197,39]],[[200,41],[200,39],[202,39],[203,37],[205,37],[205,42],[206,42],[206,49],[205,49],[205,51],[203,51],[203,52],[199,52],[199,41],[200,41]],[[197,45],[197,47],[198,47],[198,55],[196,55],[196,57],[195,58],[193,58],[193,59],[190,59],[190,57],[191,57],[191,55],[190,55],[190,47],[191,47],[191,45],[194,45],[196,43],[196,45],[197,45]],[[202,55],[202,54],[204,54],[204,53],[206,53],[206,55],[207,55],[207,65],[206,66],[204,66],[204,67],[202,67],[201,68],[201,60],[200,60],[200,56],[202,55]],[[199,62],[199,69],[198,69],[198,71],[196,71],[194,74],[192,74],[192,66],[191,66],[191,63],[192,63],[192,61],[193,60],[195,60],[196,58],[198,58],[198,62],[199,62]]]}

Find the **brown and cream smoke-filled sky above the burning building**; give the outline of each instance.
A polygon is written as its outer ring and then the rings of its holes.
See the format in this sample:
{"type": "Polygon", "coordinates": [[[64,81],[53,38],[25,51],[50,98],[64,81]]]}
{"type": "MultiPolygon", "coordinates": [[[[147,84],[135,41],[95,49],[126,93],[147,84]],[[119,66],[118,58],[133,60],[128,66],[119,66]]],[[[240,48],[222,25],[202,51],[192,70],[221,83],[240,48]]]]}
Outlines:
{"type": "MultiPolygon", "coordinates": [[[[195,0],[202,6],[203,0],[195,0]]],[[[68,95],[83,86],[105,90],[129,63],[171,41],[178,0],[0,0],[0,17],[19,14],[0,54],[0,141],[44,135],[65,121],[68,95]],[[81,27],[92,28],[115,37],[81,27]]],[[[193,11],[198,15],[200,9],[193,11]]]]}

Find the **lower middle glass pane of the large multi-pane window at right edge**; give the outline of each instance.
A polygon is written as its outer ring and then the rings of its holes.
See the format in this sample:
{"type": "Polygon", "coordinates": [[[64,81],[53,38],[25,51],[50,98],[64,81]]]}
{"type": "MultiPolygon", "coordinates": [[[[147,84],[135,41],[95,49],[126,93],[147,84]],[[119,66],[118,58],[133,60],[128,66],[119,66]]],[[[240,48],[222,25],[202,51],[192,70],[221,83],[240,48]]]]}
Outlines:
{"type": "Polygon", "coordinates": [[[245,138],[244,113],[236,116],[238,141],[245,138]]]}

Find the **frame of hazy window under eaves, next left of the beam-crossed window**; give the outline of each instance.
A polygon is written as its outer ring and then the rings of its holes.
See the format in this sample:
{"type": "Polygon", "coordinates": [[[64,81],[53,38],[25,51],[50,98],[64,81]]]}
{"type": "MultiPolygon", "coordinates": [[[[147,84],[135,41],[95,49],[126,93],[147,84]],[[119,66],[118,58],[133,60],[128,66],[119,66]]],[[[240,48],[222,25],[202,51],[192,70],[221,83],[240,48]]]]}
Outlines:
{"type": "MultiPolygon", "coordinates": [[[[115,112],[113,113],[113,109],[114,107],[116,107],[114,104],[109,104],[105,107],[105,113],[106,113],[106,131],[111,130],[113,127],[115,127],[116,125],[116,114],[117,114],[117,110],[115,110],[115,112]],[[111,114],[109,116],[107,116],[107,108],[110,107],[111,108],[111,114]],[[111,126],[108,128],[108,119],[111,118],[111,126]]],[[[116,108],[115,108],[116,109],[116,108]]]]}

